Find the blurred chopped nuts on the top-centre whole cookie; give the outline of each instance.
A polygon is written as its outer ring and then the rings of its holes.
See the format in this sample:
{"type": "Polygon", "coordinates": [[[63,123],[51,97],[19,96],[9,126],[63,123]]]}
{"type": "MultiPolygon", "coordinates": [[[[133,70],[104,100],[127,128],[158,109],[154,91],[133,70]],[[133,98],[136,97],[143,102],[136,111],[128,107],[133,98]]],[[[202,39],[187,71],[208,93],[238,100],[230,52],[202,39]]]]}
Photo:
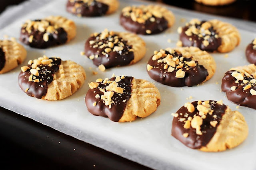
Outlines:
{"type": "MultiPolygon", "coordinates": [[[[127,6],[122,10],[122,15],[131,17],[132,21],[145,24],[146,21],[156,22],[156,18],[162,18],[163,15],[158,10],[146,8],[146,6],[127,6]]],[[[146,30],[147,34],[151,34],[151,30],[146,30]]]]}

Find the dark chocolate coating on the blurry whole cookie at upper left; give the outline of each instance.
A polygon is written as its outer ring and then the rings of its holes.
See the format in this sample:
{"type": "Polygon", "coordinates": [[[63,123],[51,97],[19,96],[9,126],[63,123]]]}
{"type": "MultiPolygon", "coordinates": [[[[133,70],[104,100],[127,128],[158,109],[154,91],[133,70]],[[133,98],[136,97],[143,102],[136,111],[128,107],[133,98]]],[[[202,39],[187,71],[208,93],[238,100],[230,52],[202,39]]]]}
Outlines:
{"type": "MultiPolygon", "coordinates": [[[[35,21],[41,21],[41,20],[35,20],[35,21]]],[[[49,25],[52,25],[49,22],[49,25]]],[[[28,33],[25,30],[26,27],[22,27],[20,31],[20,41],[29,45],[30,47],[35,47],[35,48],[48,48],[54,45],[60,45],[63,43],[66,43],[68,40],[68,34],[63,28],[57,28],[56,31],[52,34],[49,35],[49,40],[48,42],[45,42],[43,40],[43,36],[46,33],[40,32],[38,30],[35,30],[33,27],[31,28],[31,33],[28,33]],[[25,30],[25,32],[22,32],[22,30],[25,30]],[[33,41],[30,43],[29,42],[29,37],[34,36],[33,41]]]]}

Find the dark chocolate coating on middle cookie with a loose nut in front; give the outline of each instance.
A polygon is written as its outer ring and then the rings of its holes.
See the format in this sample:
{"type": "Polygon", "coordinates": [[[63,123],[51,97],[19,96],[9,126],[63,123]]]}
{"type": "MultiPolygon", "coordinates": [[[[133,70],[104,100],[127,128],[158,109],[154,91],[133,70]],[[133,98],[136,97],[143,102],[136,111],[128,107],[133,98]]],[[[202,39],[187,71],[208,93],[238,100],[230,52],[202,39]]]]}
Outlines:
{"type": "MultiPolygon", "coordinates": [[[[100,35],[100,34],[99,34],[100,35]]],[[[114,37],[114,36],[113,36],[114,37]]],[[[119,40],[122,40],[119,38],[119,40]]],[[[124,65],[129,65],[133,60],[134,60],[134,52],[129,51],[129,49],[132,48],[132,45],[127,45],[126,41],[122,41],[124,43],[124,49],[122,50],[122,53],[118,53],[117,51],[111,51],[107,53],[106,55],[102,54],[102,51],[108,47],[104,47],[100,49],[99,47],[93,48],[93,45],[97,44],[97,42],[103,42],[103,43],[108,43],[107,39],[104,40],[96,40],[96,37],[90,37],[85,43],[85,55],[90,56],[90,55],[98,55],[98,58],[94,58],[92,61],[94,65],[101,65],[103,64],[106,68],[110,67],[116,67],[116,66],[124,66],[124,65]],[[90,45],[90,41],[94,40],[96,43],[90,45]]],[[[114,46],[118,46],[117,44],[114,44],[114,46]]]]}

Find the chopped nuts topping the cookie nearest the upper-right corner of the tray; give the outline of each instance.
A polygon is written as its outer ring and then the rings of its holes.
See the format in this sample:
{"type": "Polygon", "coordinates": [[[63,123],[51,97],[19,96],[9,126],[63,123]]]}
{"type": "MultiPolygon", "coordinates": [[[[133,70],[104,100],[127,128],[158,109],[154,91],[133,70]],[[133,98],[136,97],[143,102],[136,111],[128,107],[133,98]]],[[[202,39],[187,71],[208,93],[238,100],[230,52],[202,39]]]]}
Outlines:
{"type": "MultiPolygon", "coordinates": [[[[214,30],[213,26],[210,24],[210,22],[207,21],[200,21],[198,19],[193,19],[190,22],[186,23],[186,26],[184,27],[187,30],[185,31],[185,34],[187,36],[198,36],[198,39],[203,39],[203,45],[207,47],[215,38],[219,38],[218,34],[214,30]]],[[[178,33],[181,34],[183,29],[182,27],[178,28],[178,33]]],[[[192,38],[191,40],[192,41],[192,38]]]]}

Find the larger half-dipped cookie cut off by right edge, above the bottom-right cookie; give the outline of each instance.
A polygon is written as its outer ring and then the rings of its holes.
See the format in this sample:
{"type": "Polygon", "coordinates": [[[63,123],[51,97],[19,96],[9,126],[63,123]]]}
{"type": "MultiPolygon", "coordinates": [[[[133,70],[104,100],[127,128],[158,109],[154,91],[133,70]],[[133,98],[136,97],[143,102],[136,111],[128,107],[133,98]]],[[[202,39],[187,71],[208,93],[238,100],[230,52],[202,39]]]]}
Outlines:
{"type": "Polygon", "coordinates": [[[221,89],[233,103],[256,109],[256,65],[231,68],[222,79],[221,89]]]}

